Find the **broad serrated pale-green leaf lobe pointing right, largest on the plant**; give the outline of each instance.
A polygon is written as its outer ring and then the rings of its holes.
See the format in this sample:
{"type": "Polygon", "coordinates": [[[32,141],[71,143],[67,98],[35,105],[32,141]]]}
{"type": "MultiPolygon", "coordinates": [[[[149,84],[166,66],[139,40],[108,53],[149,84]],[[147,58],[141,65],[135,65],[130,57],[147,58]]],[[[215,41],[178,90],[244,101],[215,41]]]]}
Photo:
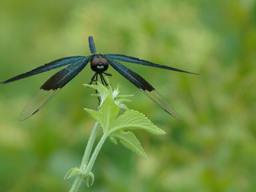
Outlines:
{"type": "Polygon", "coordinates": [[[144,129],[152,134],[165,134],[163,130],[152,124],[144,114],[134,110],[128,110],[123,115],[118,116],[109,130],[109,134],[126,129],[144,129]]]}

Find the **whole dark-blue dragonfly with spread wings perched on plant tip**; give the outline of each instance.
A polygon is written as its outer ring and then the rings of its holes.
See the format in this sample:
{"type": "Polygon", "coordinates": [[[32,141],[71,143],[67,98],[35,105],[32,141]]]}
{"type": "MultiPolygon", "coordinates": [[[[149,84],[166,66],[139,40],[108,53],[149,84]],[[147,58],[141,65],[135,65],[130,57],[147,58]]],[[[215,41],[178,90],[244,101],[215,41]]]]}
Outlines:
{"type": "Polygon", "coordinates": [[[155,64],[146,60],[142,60],[139,58],[126,56],[122,54],[101,54],[96,52],[94,40],[92,36],[88,36],[89,48],[91,54],[89,56],[70,56],[65,58],[60,58],[58,60],[54,60],[50,63],[44,64],[38,68],[35,68],[29,72],[17,75],[13,78],[10,78],[4,82],[1,82],[0,85],[10,83],[16,80],[20,80],[23,78],[27,78],[36,74],[40,74],[42,72],[46,72],[49,70],[53,70],[55,68],[59,68],[62,66],[66,66],[53,76],[51,76],[34,94],[34,96],[28,101],[26,106],[24,107],[22,114],[20,115],[19,120],[25,120],[30,116],[34,115],[38,112],[54,95],[56,95],[61,88],[63,88],[68,82],[70,82],[78,73],[80,73],[84,67],[90,62],[90,66],[92,71],[95,74],[91,78],[90,84],[94,81],[98,81],[98,76],[100,76],[100,80],[102,84],[108,85],[106,80],[104,79],[103,74],[106,76],[111,76],[111,74],[106,73],[105,71],[108,69],[108,66],[112,66],[118,73],[120,73],[124,78],[134,84],[139,90],[141,90],[146,96],[148,96],[151,100],[153,100],[156,104],[158,104],[164,111],[168,114],[172,115],[178,120],[182,120],[177,112],[170,106],[170,104],[164,99],[164,97],[155,90],[155,88],[149,84],[142,76],[137,74],[136,72],[130,70],[128,67],[124,66],[118,61],[129,62],[134,64],[140,64],[144,66],[151,66],[156,68],[162,68],[177,72],[183,72],[188,74],[196,74],[184,70],[180,70],[177,68],[155,64]]]}

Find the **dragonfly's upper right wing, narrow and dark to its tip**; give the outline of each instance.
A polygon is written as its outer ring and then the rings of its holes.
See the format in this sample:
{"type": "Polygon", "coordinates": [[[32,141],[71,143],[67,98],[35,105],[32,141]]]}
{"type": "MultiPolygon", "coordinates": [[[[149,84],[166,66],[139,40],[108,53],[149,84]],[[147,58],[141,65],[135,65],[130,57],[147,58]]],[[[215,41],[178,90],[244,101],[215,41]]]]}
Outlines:
{"type": "MultiPolygon", "coordinates": [[[[178,72],[183,72],[183,73],[197,74],[197,73],[192,73],[192,72],[176,69],[176,68],[165,66],[165,65],[155,64],[155,63],[152,63],[152,62],[149,62],[149,61],[145,61],[145,60],[142,60],[142,59],[139,59],[139,58],[130,57],[130,56],[126,56],[126,55],[104,54],[104,56],[106,56],[108,58],[115,59],[115,60],[119,60],[119,61],[129,62],[129,63],[135,63],[135,64],[140,64],[140,65],[146,65],[146,66],[151,66],[151,67],[168,69],[168,70],[178,71],[178,72]]],[[[199,75],[199,74],[197,74],[197,75],[199,75]]]]}

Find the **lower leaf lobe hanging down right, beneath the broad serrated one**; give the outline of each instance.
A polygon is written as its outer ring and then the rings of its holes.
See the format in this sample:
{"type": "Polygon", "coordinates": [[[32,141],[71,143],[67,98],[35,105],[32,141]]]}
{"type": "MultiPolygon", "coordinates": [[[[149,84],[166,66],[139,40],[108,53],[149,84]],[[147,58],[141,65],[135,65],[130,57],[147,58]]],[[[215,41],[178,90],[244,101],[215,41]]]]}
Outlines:
{"type": "Polygon", "coordinates": [[[144,149],[140,145],[139,140],[136,138],[136,136],[132,132],[120,131],[120,132],[111,134],[111,136],[119,138],[120,143],[122,143],[126,148],[132,150],[136,154],[144,157],[145,159],[148,159],[146,153],[144,152],[144,149]]]}

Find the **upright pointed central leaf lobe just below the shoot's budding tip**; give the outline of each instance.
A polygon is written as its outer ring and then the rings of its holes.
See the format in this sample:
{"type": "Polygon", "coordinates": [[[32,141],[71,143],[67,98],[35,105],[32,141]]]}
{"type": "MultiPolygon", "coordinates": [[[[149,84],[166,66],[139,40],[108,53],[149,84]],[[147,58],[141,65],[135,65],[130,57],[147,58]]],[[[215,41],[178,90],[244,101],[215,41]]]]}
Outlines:
{"type": "Polygon", "coordinates": [[[100,122],[100,125],[103,128],[103,132],[107,133],[119,113],[119,107],[113,102],[111,95],[108,94],[102,105],[99,106],[99,110],[102,111],[104,117],[104,122],[100,122]]]}

